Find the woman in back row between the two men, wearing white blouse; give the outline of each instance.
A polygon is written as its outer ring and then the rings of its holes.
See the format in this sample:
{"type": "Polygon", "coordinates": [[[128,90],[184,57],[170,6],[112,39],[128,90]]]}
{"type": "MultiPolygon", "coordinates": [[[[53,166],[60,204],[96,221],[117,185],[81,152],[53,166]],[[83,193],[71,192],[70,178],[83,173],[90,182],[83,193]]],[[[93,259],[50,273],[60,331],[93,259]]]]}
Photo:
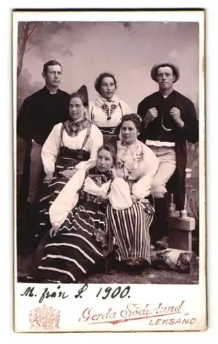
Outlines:
{"type": "Polygon", "coordinates": [[[116,96],[117,81],[113,74],[102,73],[96,78],[95,89],[99,96],[89,103],[91,121],[100,129],[104,142],[118,140],[122,117],[131,114],[130,107],[116,96]]]}

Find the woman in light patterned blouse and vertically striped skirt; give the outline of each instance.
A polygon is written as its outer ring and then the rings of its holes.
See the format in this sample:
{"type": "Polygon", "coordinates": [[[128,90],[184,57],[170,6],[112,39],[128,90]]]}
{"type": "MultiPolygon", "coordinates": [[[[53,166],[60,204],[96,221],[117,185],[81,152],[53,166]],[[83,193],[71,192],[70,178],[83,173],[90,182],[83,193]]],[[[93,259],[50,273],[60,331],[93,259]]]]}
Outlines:
{"type": "Polygon", "coordinates": [[[107,217],[115,237],[116,259],[128,265],[150,263],[149,227],[154,210],[145,199],[151,193],[151,182],[157,171],[158,159],[149,147],[140,142],[141,120],[136,114],[122,118],[121,136],[117,142],[116,175],[129,185],[129,208],[118,210],[109,205],[107,217]]]}

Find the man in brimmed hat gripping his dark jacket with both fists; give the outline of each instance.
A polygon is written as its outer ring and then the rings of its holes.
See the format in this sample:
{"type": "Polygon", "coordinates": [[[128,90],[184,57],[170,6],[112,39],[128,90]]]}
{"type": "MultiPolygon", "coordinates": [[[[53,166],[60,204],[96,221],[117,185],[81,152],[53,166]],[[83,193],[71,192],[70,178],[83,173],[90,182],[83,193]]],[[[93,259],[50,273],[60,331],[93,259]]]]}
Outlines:
{"type": "Polygon", "coordinates": [[[138,105],[138,115],[143,122],[140,140],[155,152],[160,161],[151,187],[155,200],[155,233],[152,239],[157,248],[168,247],[167,191],[173,193],[176,209],[184,209],[186,140],[195,143],[199,138],[193,103],[173,89],[179,76],[179,67],[173,63],[154,65],[151,78],[158,83],[159,91],[138,105]]]}

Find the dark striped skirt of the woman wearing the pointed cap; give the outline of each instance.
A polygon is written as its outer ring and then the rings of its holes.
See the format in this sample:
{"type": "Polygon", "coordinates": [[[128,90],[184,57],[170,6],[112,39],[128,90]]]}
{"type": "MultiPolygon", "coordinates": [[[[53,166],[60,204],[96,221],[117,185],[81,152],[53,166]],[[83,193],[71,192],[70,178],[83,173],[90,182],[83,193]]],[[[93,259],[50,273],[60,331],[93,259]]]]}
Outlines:
{"type": "MultiPolygon", "coordinates": [[[[58,163],[56,164],[56,169],[52,181],[50,182],[50,184],[43,184],[43,191],[41,199],[39,200],[39,235],[42,235],[51,228],[52,225],[50,223],[49,208],[70,179],[65,178],[59,173],[66,168],[74,169],[76,164],[81,161],[72,158],[72,155],[75,155],[74,151],[71,152],[70,149],[65,151],[65,154],[61,156],[61,158],[58,160],[58,163]],[[67,165],[69,164],[70,167],[67,167],[67,165]]],[[[85,160],[88,160],[88,158],[89,157],[87,157],[87,159],[85,160]]]]}

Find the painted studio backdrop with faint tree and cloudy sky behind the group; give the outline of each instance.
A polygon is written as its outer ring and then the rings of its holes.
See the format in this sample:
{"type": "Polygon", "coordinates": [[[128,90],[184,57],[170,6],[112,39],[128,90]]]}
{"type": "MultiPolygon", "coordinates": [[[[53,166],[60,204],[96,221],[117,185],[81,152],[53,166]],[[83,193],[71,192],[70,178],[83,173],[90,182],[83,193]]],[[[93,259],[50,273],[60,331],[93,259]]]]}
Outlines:
{"type": "MultiPolygon", "coordinates": [[[[170,61],[181,76],[175,89],[188,96],[197,109],[199,89],[198,23],[155,22],[19,22],[17,56],[17,111],[23,100],[44,86],[43,64],[56,59],[63,65],[60,88],[73,92],[87,85],[89,100],[96,99],[94,80],[112,72],[118,80],[118,96],[136,111],[145,96],[157,91],[151,67],[170,61]]],[[[25,143],[17,139],[17,175],[23,169],[25,143]]],[[[186,210],[195,217],[198,236],[198,143],[188,144],[186,210]]]]}

